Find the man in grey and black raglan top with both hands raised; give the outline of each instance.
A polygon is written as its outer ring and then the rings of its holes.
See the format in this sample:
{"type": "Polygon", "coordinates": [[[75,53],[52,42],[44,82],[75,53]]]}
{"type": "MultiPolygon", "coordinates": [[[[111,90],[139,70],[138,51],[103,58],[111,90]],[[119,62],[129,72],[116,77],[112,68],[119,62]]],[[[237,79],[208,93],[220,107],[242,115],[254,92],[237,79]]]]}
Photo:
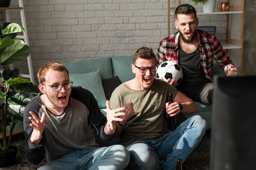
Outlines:
{"type": "MultiPolygon", "coordinates": [[[[115,136],[118,116],[124,107],[109,109],[105,117],[97,101],[86,89],[72,87],[66,67],[49,62],[38,71],[41,94],[34,97],[24,111],[25,152],[31,163],[40,170],[121,170],[130,155],[122,145],[100,148],[90,127],[103,140],[115,136]]],[[[85,80],[86,81],[86,80],[85,80]]],[[[132,111],[132,109],[130,109],[132,111]]]]}

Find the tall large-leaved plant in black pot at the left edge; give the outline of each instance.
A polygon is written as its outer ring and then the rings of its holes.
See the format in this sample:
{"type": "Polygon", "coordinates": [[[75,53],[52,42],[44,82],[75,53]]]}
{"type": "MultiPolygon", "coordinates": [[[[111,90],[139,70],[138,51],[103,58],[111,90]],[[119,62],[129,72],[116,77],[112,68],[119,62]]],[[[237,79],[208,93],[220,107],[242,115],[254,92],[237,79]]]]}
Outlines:
{"type": "MultiPolygon", "coordinates": [[[[25,29],[16,23],[4,23],[0,27],[0,66],[9,66],[13,63],[24,61],[30,54],[29,46],[22,40],[14,39],[18,33],[25,29]]],[[[39,94],[39,89],[31,81],[18,77],[19,69],[13,70],[5,68],[0,73],[0,129],[2,130],[2,140],[0,140],[0,167],[9,166],[15,163],[15,157],[11,157],[12,162],[6,164],[6,159],[1,160],[1,155],[9,155],[13,129],[17,121],[23,120],[24,108],[29,101],[39,94]],[[9,137],[7,137],[6,127],[11,126],[9,137]],[[2,165],[3,164],[3,165],[2,165]]],[[[16,151],[17,153],[17,151],[16,151]]]]}

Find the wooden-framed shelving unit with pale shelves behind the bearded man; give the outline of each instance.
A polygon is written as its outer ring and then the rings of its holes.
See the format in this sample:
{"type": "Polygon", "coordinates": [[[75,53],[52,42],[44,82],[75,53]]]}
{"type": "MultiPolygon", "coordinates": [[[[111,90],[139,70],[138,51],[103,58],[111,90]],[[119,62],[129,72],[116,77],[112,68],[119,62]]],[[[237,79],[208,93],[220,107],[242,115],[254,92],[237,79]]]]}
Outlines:
{"type": "MultiPolygon", "coordinates": [[[[171,23],[171,16],[174,16],[174,12],[171,13],[171,11],[175,11],[176,7],[171,7],[170,4],[171,0],[168,0],[168,36],[171,34],[171,28],[170,28],[170,23],[171,23]]],[[[173,2],[172,2],[173,3],[173,2]]],[[[241,5],[232,5],[230,4],[230,0],[227,0],[227,3],[229,4],[229,11],[226,12],[212,12],[212,13],[203,13],[199,12],[197,15],[227,15],[227,29],[226,29],[226,43],[222,43],[223,49],[226,49],[228,54],[234,54],[236,55],[236,51],[232,53],[232,49],[238,49],[240,51],[240,56],[239,58],[236,58],[238,60],[237,63],[239,63],[238,67],[238,72],[242,73],[243,70],[243,31],[244,31],[244,9],[245,9],[245,0],[241,0],[241,5]],[[234,22],[239,22],[237,20],[233,21],[231,20],[231,15],[232,14],[240,14],[241,20],[240,20],[240,37],[239,38],[233,38],[233,32],[234,29],[237,29],[237,23],[234,22]],[[233,24],[235,26],[231,27],[233,24]],[[231,35],[232,34],[232,35],[231,35]]],[[[181,0],[178,0],[178,5],[181,4],[181,0]]],[[[229,55],[232,56],[232,55],[229,55]]],[[[232,59],[233,60],[233,59],[232,59]]]]}

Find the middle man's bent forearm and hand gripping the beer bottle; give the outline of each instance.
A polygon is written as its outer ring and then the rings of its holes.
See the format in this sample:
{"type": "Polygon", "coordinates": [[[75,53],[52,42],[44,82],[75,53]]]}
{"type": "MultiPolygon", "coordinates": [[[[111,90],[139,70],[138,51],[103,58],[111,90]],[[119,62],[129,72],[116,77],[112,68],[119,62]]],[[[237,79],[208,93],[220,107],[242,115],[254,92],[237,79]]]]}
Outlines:
{"type": "Polygon", "coordinates": [[[198,109],[198,106],[191,98],[188,98],[186,95],[179,91],[177,91],[173,101],[174,102],[171,104],[166,103],[166,112],[172,116],[175,116],[181,112],[181,108],[178,103],[180,103],[183,107],[182,112],[193,113],[198,109]]]}

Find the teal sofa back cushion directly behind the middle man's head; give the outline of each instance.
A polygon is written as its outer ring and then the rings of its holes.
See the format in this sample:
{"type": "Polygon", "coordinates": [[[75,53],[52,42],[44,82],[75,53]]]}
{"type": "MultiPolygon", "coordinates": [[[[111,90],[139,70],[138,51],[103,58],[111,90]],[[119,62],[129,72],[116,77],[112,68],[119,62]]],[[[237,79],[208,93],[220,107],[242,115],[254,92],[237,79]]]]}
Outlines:
{"type": "Polygon", "coordinates": [[[132,62],[133,56],[111,57],[113,77],[118,76],[121,83],[135,78],[132,72],[132,62]]]}

